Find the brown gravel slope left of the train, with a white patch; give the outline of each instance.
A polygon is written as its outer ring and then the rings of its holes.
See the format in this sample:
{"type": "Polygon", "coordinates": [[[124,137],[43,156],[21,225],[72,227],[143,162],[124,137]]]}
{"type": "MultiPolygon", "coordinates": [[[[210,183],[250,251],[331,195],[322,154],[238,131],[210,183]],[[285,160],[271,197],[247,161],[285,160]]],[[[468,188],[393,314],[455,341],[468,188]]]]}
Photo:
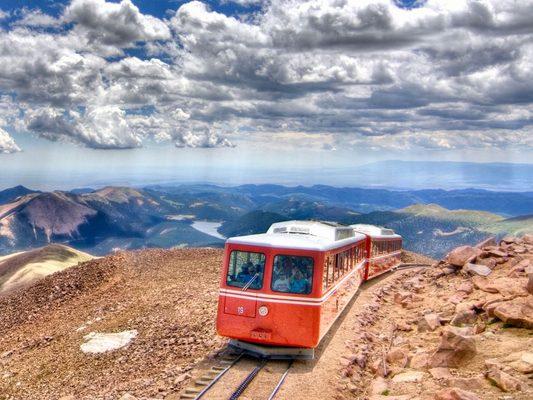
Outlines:
{"type": "Polygon", "coordinates": [[[215,334],[221,258],[212,249],[119,253],[0,298],[0,399],[179,392],[192,365],[224,344],[215,334]],[[84,353],[95,333],[133,339],[84,353]]]}

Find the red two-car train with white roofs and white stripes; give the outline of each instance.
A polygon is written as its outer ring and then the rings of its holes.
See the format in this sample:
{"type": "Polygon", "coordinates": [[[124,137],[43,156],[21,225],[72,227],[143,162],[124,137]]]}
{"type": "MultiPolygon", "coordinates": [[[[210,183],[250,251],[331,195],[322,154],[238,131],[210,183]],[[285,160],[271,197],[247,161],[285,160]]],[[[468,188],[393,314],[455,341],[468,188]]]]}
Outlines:
{"type": "Polygon", "coordinates": [[[390,229],[316,221],[280,222],[264,234],[230,238],[217,331],[261,354],[293,348],[312,357],[360,284],[397,266],[401,248],[401,236],[390,229]]]}

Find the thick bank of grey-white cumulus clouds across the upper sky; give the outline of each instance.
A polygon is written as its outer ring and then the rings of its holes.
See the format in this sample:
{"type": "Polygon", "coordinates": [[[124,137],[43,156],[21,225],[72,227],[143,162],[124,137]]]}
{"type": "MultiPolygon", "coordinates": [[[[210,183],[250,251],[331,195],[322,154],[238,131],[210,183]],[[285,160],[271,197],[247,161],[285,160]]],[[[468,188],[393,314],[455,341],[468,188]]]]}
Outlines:
{"type": "Polygon", "coordinates": [[[18,13],[0,31],[0,110],[92,148],[231,147],[250,130],[324,150],[531,146],[532,0],[238,2],[261,7],[18,13]]]}

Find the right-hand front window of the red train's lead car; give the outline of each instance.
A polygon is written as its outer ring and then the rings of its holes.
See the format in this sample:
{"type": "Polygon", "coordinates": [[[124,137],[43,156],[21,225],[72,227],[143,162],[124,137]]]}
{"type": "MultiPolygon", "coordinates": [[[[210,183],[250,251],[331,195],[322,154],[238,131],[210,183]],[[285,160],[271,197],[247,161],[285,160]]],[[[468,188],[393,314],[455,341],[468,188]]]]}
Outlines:
{"type": "Polygon", "coordinates": [[[311,257],[277,255],[274,257],[272,290],[283,293],[311,293],[313,266],[311,257]]]}

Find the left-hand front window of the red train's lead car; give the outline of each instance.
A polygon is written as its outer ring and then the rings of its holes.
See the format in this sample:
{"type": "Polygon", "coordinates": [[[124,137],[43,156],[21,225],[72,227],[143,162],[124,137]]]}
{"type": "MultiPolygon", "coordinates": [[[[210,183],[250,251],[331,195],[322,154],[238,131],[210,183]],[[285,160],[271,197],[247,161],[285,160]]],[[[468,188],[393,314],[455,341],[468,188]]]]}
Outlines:
{"type": "Polygon", "coordinates": [[[265,272],[265,255],[250,251],[231,252],[226,283],[243,289],[261,289],[265,272]]]}

